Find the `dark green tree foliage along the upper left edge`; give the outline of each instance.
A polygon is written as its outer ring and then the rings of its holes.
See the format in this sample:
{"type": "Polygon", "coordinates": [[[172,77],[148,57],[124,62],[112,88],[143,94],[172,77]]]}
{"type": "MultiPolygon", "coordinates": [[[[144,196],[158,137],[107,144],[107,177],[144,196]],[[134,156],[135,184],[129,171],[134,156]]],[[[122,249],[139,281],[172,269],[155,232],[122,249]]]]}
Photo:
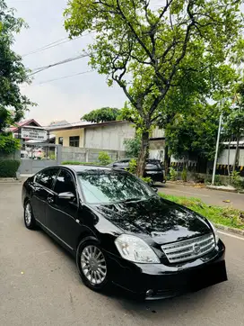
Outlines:
{"type": "MultiPolygon", "coordinates": [[[[22,64],[22,57],[12,50],[14,34],[26,26],[22,18],[15,18],[0,0],[0,131],[22,119],[32,103],[21,94],[20,85],[30,83],[29,70],[22,64]]],[[[3,135],[1,136],[3,138],[3,135]]],[[[3,142],[4,143],[4,140],[3,142]]]]}

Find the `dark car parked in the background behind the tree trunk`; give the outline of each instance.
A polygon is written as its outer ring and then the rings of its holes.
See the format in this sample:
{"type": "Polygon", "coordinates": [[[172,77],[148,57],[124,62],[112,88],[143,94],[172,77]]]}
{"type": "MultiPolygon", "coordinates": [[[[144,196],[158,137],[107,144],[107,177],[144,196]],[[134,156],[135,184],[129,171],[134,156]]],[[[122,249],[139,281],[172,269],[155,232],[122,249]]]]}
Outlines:
{"type": "MultiPolygon", "coordinates": [[[[118,161],[109,164],[109,167],[121,168],[126,170],[129,168],[129,162],[132,158],[122,158],[118,161]]],[[[144,177],[151,177],[153,182],[165,183],[165,172],[163,165],[159,159],[148,158],[146,159],[146,165],[144,170],[144,177]]]]}

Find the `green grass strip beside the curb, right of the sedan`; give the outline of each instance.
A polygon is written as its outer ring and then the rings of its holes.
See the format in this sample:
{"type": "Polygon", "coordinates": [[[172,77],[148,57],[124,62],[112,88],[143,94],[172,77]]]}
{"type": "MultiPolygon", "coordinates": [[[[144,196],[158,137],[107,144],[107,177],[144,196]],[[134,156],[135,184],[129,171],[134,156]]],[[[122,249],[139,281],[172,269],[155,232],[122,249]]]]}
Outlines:
{"type": "Polygon", "coordinates": [[[162,198],[170,200],[171,202],[186,206],[192,211],[205,216],[209,221],[213,223],[244,230],[244,212],[241,212],[232,206],[210,206],[198,198],[165,195],[162,193],[159,193],[159,195],[161,195],[162,198]]]}

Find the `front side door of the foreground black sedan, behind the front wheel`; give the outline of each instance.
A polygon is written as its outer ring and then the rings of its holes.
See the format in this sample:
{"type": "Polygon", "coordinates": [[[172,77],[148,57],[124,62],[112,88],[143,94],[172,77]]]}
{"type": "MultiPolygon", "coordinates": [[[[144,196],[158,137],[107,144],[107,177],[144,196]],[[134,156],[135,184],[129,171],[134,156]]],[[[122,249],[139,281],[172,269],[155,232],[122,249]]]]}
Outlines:
{"type": "Polygon", "coordinates": [[[79,197],[74,176],[69,170],[61,168],[53,192],[48,195],[47,226],[69,249],[75,248],[76,240],[82,231],[79,220],[76,220],[78,209],[79,197]],[[58,198],[59,194],[67,192],[74,194],[73,200],[58,198]]]}

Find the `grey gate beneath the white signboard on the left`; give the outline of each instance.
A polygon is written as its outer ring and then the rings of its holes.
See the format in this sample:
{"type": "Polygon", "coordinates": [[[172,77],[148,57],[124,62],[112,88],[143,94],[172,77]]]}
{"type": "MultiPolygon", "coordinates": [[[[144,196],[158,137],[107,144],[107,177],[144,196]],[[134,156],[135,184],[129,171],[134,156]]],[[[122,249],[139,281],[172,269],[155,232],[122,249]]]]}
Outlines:
{"type": "Polygon", "coordinates": [[[19,173],[34,175],[43,168],[61,163],[62,146],[48,143],[22,142],[19,173]]]}

